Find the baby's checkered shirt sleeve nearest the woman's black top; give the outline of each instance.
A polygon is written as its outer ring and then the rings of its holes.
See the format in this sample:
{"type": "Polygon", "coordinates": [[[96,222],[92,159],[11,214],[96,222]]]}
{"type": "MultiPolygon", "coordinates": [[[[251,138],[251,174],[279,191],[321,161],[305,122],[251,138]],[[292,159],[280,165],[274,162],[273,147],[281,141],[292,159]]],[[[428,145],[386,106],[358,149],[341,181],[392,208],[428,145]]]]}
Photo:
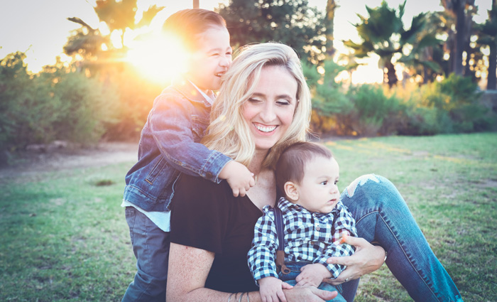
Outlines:
{"type": "Polygon", "coordinates": [[[252,248],[247,254],[249,269],[256,281],[276,274],[275,254],[278,249],[278,238],[274,224],[273,211],[263,208],[263,215],[257,220],[253,230],[252,248]]]}

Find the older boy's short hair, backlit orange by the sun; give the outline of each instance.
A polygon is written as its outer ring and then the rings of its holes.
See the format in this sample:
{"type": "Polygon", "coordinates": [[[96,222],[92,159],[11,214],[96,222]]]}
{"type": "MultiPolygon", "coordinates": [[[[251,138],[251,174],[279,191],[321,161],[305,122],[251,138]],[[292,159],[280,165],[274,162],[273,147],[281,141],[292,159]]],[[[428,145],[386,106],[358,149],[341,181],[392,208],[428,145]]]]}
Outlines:
{"type": "Polygon", "coordinates": [[[197,35],[207,29],[221,26],[226,28],[224,18],[207,9],[183,9],[169,16],[163,24],[163,33],[174,33],[188,50],[194,50],[197,35]]]}

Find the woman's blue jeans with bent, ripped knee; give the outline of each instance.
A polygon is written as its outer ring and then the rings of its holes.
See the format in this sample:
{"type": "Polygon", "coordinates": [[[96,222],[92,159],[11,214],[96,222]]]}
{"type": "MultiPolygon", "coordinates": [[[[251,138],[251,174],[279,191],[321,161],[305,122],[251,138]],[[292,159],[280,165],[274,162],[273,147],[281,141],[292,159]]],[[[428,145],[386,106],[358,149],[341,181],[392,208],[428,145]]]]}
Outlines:
{"type": "MultiPolygon", "coordinates": [[[[342,193],[356,219],[359,237],[386,250],[386,264],[414,301],[462,302],[461,294],[433,254],[402,196],[386,178],[361,176],[342,193]]],[[[354,301],[359,279],[342,284],[346,301],[354,301]]]]}

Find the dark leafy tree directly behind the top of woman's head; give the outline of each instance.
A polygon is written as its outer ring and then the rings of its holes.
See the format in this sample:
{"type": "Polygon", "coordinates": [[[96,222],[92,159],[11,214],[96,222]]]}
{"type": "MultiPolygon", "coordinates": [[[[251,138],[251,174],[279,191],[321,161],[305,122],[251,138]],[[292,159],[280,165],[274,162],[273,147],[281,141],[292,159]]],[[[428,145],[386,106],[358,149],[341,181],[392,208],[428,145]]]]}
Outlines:
{"type": "Polygon", "coordinates": [[[277,41],[290,45],[312,63],[324,60],[324,14],[307,0],[230,0],[218,9],[236,46],[277,41]]]}

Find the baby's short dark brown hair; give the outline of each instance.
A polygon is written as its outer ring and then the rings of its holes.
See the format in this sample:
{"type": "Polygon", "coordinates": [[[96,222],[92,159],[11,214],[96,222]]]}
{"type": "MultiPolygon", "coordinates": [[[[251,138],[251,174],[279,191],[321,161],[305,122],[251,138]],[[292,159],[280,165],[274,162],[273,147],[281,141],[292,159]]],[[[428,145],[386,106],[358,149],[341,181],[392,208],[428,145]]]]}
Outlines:
{"type": "Polygon", "coordinates": [[[310,141],[300,141],[288,146],[276,163],[276,188],[278,195],[285,195],[285,183],[300,183],[304,178],[305,165],[316,156],[332,158],[333,153],[325,146],[310,141]]]}

